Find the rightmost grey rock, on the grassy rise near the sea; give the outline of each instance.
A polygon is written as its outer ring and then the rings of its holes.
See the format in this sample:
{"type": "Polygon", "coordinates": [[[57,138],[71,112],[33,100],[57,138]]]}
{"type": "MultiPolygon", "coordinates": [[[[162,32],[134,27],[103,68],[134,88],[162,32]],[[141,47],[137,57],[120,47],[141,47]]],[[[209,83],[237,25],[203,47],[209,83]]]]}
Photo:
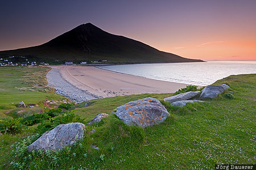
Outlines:
{"type": "Polygon", "coordinates": [[[218,94],[222,94],[225,90],[226,88],[221,85],[209,85],[202,90],[199,99],[213,99],[217,97],[218,94]]]}

